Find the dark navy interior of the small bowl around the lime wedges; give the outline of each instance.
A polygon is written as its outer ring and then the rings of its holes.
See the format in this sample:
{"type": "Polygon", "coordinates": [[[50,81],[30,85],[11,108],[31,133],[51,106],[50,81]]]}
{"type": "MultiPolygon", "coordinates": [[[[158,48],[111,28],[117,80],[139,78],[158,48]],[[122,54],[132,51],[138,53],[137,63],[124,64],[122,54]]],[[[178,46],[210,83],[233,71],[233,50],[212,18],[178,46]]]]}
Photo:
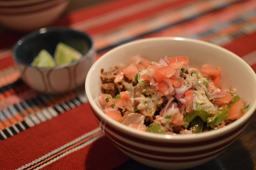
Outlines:
{"type": "Polygon", "coordinates": [[[30,66],[42,49],[53,56],[59,42],[72,46],[83,55],[93,46],[91,37],[85,33],[69,28],[41,28],[25,35],[15,44],[13,58],[21,64],[30,66]]]}

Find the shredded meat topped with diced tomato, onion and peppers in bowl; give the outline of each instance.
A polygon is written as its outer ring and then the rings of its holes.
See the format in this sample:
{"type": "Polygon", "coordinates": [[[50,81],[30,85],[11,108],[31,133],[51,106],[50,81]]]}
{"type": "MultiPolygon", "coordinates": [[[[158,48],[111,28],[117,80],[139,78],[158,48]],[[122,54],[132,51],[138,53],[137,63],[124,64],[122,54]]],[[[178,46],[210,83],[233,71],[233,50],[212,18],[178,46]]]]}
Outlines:
{"type": "Polygon", "coordinates": [[[190,67],[188,57],[155,62],[136,55],[129,65],[101,70],[96,100],[110,118],[137,130],[200,133],[232,123],[249,107],[234,88],[222,88],[220,73],[209,64],[190,67]]]}

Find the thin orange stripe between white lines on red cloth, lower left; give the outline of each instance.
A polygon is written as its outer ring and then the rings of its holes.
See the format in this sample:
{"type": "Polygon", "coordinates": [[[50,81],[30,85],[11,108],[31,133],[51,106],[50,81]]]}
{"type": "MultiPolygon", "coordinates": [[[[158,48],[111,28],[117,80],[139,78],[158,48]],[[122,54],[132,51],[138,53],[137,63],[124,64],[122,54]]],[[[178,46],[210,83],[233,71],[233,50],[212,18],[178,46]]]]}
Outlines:
{"type": "Polygon", "coordinates": [[[66,151],[68,151],[68,150],[70,150],[70,149],[73,149],[73,148],[77,147],[78,145],[80,145],[80,144],[82,144],[82,143],[85,143],[85,142],[89,141],[89,140],[92,139],[93,137],[96,137],[96,136],[98,136],[98,135],[100,135],[100,134],[102,134],[102,133],[103,133],[102,131],[99,131],[99,132],[93,134],[92,136],[89,136],[89,137],[85,138],[84,140],[82,140],[82,141],[80,141],[80,142],[78,142],[78,143],[74,143],[72,146],[70,146],[70,147],[68,147],[68,148],[66,148],[66,149],[64,149],[64,150],[61,150],[60,152],[58,152],[58,153],[56,153],[56,154],[54,154],[54,155],[48,157],[47,159],[42,160],[41,162],[38,162],[38,163],[35,164],[34,166],[28,167],[27,170],[34,169],[35,167],[39,167],[41,164],[43,164],[43,163],[45,163],[45,162],[47,162],[47,161],[49,161],[49,160],[51,160],[51,159],[57,157],[58,155],[61,155],[61,154],[65,153],[66,151]]]}

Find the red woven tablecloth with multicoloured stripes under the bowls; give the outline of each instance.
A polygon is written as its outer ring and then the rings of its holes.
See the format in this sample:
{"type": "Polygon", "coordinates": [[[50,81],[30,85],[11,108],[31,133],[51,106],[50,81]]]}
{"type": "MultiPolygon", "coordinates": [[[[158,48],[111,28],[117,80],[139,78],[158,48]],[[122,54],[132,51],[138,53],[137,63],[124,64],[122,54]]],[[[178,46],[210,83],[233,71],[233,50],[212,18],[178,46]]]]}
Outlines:
{"type": "MultiPolygon", "coordinates": [[[[114,0],[73,11],[52,26],[91,34],[97,58],[131,40],[178,36],[223,46],[256,71],[255,11],[255,0],[114,0]]],[[[122,167],[129,158],[103,135],[84,87],[38,94],[19,79],[11,49],[24,34],[0,30],[0,169],[122,167]]]]}

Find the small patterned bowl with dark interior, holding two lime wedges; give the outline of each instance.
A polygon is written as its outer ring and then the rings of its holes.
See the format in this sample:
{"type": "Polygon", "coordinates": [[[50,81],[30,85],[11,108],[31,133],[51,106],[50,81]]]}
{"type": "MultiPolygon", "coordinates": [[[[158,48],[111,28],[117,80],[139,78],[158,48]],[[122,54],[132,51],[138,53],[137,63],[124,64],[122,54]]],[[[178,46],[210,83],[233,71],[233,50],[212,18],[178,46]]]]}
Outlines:
{"type": "Polygon", "coordinates": [[[42,93],[63,93],[84,84],[95,56],[93,41],[88,34],[65,27],[42,28],[29,33],[17,41],[12,52],[21,79],[30,88],[42,93]],[[53,68],[31,66],[34,57],[42,49],[53,56],[59,42],[77,49],[83,57],[53,68]]]}

